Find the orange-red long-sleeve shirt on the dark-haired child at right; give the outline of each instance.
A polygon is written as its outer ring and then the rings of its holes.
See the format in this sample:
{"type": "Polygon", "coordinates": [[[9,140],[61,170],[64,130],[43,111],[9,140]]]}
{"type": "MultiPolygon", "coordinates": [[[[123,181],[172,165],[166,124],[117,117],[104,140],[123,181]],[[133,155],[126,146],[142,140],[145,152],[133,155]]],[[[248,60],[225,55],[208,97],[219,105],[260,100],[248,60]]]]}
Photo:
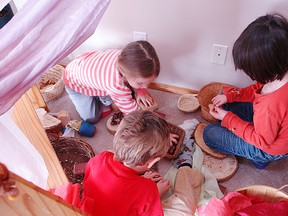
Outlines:
{"type": "Polygon", "coordinates": [[[271,155],[288,153],[288,84],[270,94],[260,94],[263,85],[246,88],[223,87],[228,102],[252,102],[253,123],[228,112],[221,125],[246,142],[271,155]]]}

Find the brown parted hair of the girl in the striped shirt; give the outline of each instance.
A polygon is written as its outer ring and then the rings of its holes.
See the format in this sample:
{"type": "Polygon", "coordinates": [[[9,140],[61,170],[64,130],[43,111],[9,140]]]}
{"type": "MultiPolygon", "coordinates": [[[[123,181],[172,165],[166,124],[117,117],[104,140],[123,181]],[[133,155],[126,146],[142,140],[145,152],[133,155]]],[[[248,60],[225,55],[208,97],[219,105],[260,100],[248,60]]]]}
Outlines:
{"type": "Polygon", "coordinates": [[[118,57],[118,66],[123,75],[133,77],[158,77],[160,72],[159,58],[148,41],[127,44],[118,57]]]}

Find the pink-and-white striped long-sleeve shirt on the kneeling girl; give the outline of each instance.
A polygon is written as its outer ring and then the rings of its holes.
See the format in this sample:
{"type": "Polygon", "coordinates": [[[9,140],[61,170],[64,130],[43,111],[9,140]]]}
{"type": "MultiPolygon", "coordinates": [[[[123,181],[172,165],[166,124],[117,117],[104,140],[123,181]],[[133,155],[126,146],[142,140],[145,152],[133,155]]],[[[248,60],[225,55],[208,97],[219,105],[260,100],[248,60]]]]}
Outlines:
{"type": "Polygon", "coordinates": [[[104,50],[81,54],[66,66],[65,85],[88,96],[109,95],[124,114],[139,110],[117,69],[120,52],[104,50]]]}

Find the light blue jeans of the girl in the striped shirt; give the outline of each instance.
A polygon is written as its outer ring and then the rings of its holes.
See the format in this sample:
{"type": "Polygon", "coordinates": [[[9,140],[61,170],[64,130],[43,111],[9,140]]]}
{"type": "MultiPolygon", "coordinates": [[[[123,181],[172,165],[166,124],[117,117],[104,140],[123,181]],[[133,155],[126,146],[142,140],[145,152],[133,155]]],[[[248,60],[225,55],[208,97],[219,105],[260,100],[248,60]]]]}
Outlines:
{"type": "Polygon", "coordinates": [[[95,124],[101,118],[101,103],[109,106],[112,103],[110,96],[88,96],[73,91],[65,86],[80,117],[90,124],[95,124]]]}

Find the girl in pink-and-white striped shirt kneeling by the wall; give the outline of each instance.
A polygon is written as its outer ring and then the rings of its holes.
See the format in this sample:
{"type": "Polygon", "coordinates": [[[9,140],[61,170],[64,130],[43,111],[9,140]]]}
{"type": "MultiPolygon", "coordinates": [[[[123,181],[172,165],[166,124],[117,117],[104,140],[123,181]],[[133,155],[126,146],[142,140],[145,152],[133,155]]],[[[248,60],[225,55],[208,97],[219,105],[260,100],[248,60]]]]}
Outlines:
{"type": "Polygon", "coordinates": [[[153,46],[148,41],[135,41],[122,50],[81,54],[67,65],[64,83],[80,117],[94,124],[112,102],[125,115],[140,110],[140,101],[152,105],[147,87],[159,72],[153,46]]]}

